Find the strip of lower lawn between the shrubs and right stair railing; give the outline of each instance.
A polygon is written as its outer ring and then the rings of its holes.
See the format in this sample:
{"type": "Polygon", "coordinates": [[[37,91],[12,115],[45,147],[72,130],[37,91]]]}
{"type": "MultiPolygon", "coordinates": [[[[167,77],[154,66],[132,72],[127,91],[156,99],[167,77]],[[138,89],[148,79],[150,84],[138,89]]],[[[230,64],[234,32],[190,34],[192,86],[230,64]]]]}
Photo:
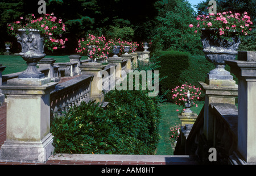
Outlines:
{"type": "MultiPolygon", "coordinates": [[[[197,103],[198,107],[192,107],[191,110],[196,114],[199,114],[201,109],[204,106],[204,102],[197,103]]],[[[156,150],[157,155],[173,155],[174,151],[172,150],[171,143],[168,136],[168,131],[175,124],[180,124],[180,119],[177,114],[183,110],[182,107],[177,106],[176,104],[161,104],[160,110],[162,113],[162,119],[159,124],[159,133],[161,139],[158,143],[158,148],[156,150]],[[179,110],[179,112],[177,112],[179,110]]]]}

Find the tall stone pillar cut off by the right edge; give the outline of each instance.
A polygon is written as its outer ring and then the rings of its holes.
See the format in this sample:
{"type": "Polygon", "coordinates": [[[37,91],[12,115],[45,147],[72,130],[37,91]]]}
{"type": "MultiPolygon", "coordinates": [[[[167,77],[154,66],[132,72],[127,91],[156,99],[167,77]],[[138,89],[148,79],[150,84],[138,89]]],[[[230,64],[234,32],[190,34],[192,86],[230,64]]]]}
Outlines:
{"type": "Polygon", "coordinates": [[[256,163],[256,52],[238,52],[226,61],[238,77],[237,149],[248,163],[256,163]]]}

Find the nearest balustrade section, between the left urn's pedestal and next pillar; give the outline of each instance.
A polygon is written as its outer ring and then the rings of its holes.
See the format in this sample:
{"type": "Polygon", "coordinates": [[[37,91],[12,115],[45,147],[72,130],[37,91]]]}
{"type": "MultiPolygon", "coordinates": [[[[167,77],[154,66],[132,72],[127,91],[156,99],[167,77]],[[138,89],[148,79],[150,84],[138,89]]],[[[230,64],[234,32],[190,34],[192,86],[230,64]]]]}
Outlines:
{"type": "Polygon", "coordinates": [[[81,75],[55,86],[51,92],[51,117],[61,115],[70,107],[79,106],[82,101],[89,102],[93,76],[81,75]]]}

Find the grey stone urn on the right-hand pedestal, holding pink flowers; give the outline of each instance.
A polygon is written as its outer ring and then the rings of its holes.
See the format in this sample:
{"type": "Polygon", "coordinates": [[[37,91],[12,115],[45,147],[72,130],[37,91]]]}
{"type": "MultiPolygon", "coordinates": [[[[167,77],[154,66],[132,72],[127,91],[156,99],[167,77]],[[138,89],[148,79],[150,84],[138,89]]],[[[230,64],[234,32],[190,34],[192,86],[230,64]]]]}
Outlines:
{"type": "Polygon", "coordinates": [[[229,39],[221,39],[214,35],[214,31],[202,29],[201,41],[205,58],[215,65],[215,69],[208,73],[208,79],[232,80],[233,76],[225,70],[225,60],[235,60],[237,49],[241,43],[238,32],[230,32],[229,39]]]}

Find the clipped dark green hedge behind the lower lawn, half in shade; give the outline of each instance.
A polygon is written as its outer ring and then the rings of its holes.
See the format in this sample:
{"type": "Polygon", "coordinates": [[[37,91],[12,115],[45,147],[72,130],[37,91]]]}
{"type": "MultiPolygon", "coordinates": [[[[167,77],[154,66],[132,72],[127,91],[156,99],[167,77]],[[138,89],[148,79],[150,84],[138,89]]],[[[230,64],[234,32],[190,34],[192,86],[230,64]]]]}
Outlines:
{"type": "MultiPolygon", "coordinates": [[[[191,56],[188,52],[161,51],[156,53],[160,61],[159,73],[167,76],[160,82],[160,94],[181,86],[185,82],[199,87],[199,81],[205,81],[207,73],[214,69],[214,65],[204,56],[191,56]]],[[[171,101],[171,91],[166,95],[171,101]]]]}

